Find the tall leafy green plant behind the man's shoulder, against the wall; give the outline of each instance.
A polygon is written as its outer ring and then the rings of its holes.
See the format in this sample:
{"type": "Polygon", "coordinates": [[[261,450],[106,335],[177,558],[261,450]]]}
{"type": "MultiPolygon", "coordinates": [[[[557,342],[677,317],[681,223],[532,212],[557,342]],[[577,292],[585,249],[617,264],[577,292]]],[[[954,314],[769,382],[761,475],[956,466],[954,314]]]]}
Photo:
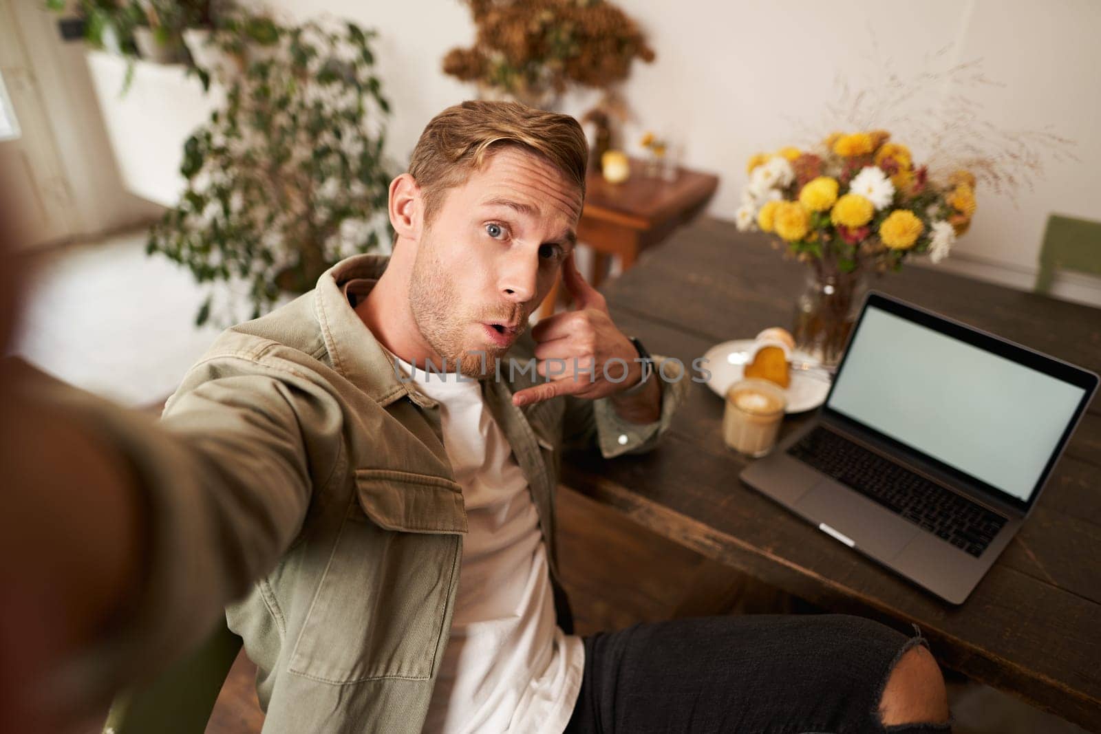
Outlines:
{"type": "MultiPolygon", "coordinates": [[[[224,79],[225,106],[185,143],[186,188],[146,248],[200,283],[243,285],[253,318],[389,237],[395,174],[383,155],[390,105],[374,72],[374,33],[313,22],[270,31],[270,54],[224,79]]],[[[236,24],[211,39],[227,53],[247,41],[236,24]]],[[[216,311],[219,322],[237,316],[215,308],[211,292],[196,322],[216,311]]]]}

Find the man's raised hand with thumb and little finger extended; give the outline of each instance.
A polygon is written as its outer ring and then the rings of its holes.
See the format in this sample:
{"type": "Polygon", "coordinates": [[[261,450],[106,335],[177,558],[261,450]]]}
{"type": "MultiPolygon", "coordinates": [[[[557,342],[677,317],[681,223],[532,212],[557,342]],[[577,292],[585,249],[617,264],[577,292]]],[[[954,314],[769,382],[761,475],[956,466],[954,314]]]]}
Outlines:
{"type": "MultiPolygon", "coordinates": [[[[577,395],[588,399],[607,397],[636,385],[642,379],[642,365],[636,361],[634,344],[615,328],[604,297],[585,282],[577,270],[574,253],[566,256],[562,269],[563,284],[574,298],[575,310],[556,314],[535,325],[536,371],[549,382],[521,390],[512,396],[513,405],[530,405],[559,395],[577,395]]],[[[656,405],[656,377],[650,376],[655,387],[632,396],[631,405],[623,405],[628,419],[635,416],[651,417],[654,410],[640,412],[643,406],[656,405]],[[646,415],[642,415],[645,413],[646,415]]],[[[619,412],[620,405],[617,405],[619,412]]],[[[658,409],[659,413],[659,409],[658,409]]],[[[645,423],[646,420],[636,420],[645,423]]]]}

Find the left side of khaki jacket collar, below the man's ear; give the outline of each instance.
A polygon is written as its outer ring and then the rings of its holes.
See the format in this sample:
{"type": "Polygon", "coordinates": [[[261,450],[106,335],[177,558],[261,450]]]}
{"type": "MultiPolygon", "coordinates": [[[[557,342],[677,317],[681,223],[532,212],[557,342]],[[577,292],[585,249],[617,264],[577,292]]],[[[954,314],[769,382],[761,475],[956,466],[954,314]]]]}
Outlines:
{"type": "Polygon", "coordinates": [[[437,403],[399,379],[390,352],[379,343],[348,300],[348,292],[363,295],[374,286],[389,255],[352,255],[327,270],[317,281],[314,307],[333,366],[382,406],[408,397],[421,407],[437,403]]]}

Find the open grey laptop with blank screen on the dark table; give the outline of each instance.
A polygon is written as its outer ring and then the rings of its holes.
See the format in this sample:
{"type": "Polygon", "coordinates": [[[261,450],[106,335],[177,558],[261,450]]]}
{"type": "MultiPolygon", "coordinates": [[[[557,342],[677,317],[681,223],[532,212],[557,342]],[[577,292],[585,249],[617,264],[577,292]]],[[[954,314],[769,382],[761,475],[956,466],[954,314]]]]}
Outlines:
{"type": "Polygon", "coordinates": [[[741,479],[962,604],[1097,387],[1092,372],[872,292],[818,414],[741,479]]]}

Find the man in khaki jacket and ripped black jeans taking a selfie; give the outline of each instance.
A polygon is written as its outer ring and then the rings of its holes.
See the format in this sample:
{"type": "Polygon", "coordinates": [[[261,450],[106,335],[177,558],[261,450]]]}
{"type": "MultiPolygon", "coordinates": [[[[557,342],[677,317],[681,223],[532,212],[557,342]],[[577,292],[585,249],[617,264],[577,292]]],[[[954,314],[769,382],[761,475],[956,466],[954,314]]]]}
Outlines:
{"type": "Polygon", "coordinates": [[[232,602],[269,732],[946,730],[924,640],[855,617],[570,634],[563,446],[650,449],[687,388],[577,272],[586,156],[565,116],[445,110],[391,184],[391,258],[222,335],[160,429],[107,420],[146,561],[72,670],[167,657],[232,602]],[[575,309],[526,335],[559,272],[575,309]]]}

